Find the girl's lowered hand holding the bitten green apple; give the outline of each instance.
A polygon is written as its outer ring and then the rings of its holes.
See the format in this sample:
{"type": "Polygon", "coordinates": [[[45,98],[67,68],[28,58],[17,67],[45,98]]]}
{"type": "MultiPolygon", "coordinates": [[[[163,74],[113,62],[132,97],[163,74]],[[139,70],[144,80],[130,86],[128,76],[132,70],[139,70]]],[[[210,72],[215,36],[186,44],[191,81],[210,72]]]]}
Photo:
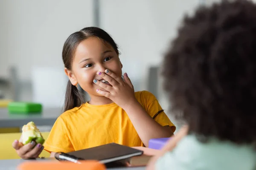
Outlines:
{"type": "MultiPolygon", "coordinates": [[[[20,141],[22,138],[20,139],[20,141]]],[[[35,146],[35,142],[32,141],[26,145],[23,145],[22,142],[18,140],[15,140],[12,143],[12,147],[16,150],[18,156],[22,159],[32,159],[32,158],[38,158],[40,153],[43,151],[44,146],[41,144],[37,144],[35,146]]]]}

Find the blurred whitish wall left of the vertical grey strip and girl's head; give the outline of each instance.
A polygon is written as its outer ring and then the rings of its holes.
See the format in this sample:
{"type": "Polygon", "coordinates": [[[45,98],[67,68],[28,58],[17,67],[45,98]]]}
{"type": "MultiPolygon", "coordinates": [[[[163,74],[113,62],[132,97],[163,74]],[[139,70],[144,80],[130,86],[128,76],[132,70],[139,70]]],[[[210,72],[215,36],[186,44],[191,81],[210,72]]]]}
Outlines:
{"type": "Polygon", "coordinates": [[[63,69],[67,36],[93,24],[92,0],[0,0],[0,77],[17,66],[20,79],[31,69],[63,69]]]}

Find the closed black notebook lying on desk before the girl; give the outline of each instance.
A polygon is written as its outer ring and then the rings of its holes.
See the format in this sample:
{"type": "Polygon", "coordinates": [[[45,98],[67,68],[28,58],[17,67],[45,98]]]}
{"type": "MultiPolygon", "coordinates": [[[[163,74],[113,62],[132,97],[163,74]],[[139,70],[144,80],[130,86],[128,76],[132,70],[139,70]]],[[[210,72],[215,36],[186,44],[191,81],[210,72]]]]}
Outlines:
{"type": "Polygon", "coordinates": [[[110,143],[97,147],[91,147],[88,149],[69,152],[67,154],[80,160],[98,160],[101,163],[106,164],[109,162],[142,155],[143,151],[116,143],[110,143]]]}

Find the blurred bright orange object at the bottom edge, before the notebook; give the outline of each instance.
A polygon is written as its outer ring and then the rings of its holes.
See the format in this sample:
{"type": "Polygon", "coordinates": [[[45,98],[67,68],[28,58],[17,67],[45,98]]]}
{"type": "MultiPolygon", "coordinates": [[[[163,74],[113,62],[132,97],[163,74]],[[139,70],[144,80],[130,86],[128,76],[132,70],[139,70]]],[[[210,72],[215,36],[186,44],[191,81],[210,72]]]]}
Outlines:
{"type": "Polygon", "coordinates": [[[28,161],[20,164],[18,170],[106,170],[99,161],[80,161],[81,164],[70,161],[28,161]]]}

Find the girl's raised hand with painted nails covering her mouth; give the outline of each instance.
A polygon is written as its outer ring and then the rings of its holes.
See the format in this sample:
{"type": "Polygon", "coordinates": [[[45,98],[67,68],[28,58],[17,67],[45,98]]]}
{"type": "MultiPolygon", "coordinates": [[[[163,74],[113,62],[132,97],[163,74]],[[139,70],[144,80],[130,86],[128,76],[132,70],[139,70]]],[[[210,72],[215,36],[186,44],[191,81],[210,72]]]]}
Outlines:
{"type": "Polygon", "coordinates": [[[105,91],[97,89],[96,91],[102,96],[108,97],[117,105],[125,110],[132,103],[137,102],[134,96],[134,87],[131,83],[131,80],[128,78],[127,73],[124,74],[124,80],[121,77],[116,76],[112,71],[108,69],[105,70],[105,73],[97,73],[102,79],[108,81],[108,84],[100,82],[99,80],[94,79],[93,82],[96,85],[99,85],[105,91]],[[111,87],[112,85],[112,87],[111,87]]]}

